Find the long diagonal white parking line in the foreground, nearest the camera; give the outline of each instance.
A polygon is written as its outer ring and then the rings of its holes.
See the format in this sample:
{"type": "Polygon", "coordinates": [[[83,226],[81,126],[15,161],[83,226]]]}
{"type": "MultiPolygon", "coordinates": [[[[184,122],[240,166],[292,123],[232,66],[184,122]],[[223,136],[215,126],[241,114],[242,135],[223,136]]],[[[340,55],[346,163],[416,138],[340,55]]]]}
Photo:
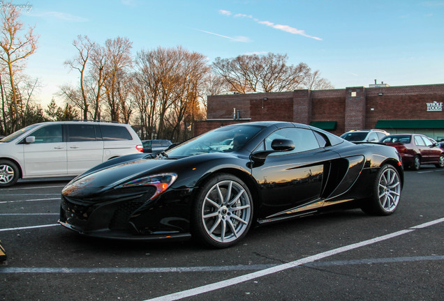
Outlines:
{"type": "Polygon", "coordinates": [[[302,258],[302,259],[299,259],[297,261],[292,261],[290,263],[284,263],[282,265],[277,265],[275,267],[267,268],[265,270],[260,270],[260,271],[257,271],[257,272],[252,272],[252,273],[249,273],[249,274],[246,274],[246,275],[242,275],[242,276],[239,276],[239,277],[235,277],[235,278],[232,278],[232,279],[227,279],[227,280],[219,281],[219,282],[216,282],[214,284],[207,284],[205,286],[200,286],[200,287],[197,287],[197,288],[191,288],[191,289],[186,290],[186,291],[180,291],[180,292],[177,292],[177,293],[172,293],[170,295],[163,295],[161,297],[154,298],[154,299],[149,299],[149,300],[145,300],[145,301],[179,300],[179,299],[182,299],[182,298],[188,298],[188,297],[193,297],[195,295],[200,295],[202,293],[208,293],[210,291],[216,291],[216,290],[218,290],[220,288],[226,288],[228,286],[233,286],[235,284],[240,284],[242,282],[249,281],[251,279],[256,279],[256,278],[259,278],[259,277],[271,275],[271,274],[274,274],[276,272],[281,272],[283,270],[288,270],[290,268],[295,268],[295,267],[297,267],[299,265],[310,263],[312,261],[317,261],[317,260],[325,258],[325,257],[329,257],[329,256],[333,256],[333,255],[336,255],[336,254],[339,254],[339,253],[347,252],[347,251],[350,251],[352,249],[357,249],[359,247],[364,247],[366,245],[372,245],[372,244],[374,244],[376,242],[381,242],[383,240],[387,240],[387,239],[390,239],[390,238],[395,238],[397,236],[401,236],[401,235],[404,235],[406,233],[410,233],[410,232],[416,231],[417,229],[422,229],[424,227],[431,226],[431,225],[434,225],[434,224],[438,224],[438,223],[441,223],[441,222],[444,222],[444,217],[441,218],[441,219],[436,219],[436,220],[434,220],[432,222],[428,222],[428,223],[424,223],[424,224],[420,224],[420,225],[417,225],[417,226],[410,227],[410,229],[405,229],[405,230],[401,230],[401,231],[397,231],[397,232],[394,232],[394,233],[387,234],[385,236],[379,236],[377,238],[371,238],[369,240],[364,240],[362,242],[357,242],[357,243],[354,243],[354,244],[351,244],[351,245],[346,245],[344,247],[339,247],[339,248],[336,248],[336,249],[332,249],[330,251],[323,252],[323,253],[320,253],[320,254],[316,254],[316,255],[313,255],[313,256],[309,256],[309,257],[306,257],[306,258],[302,258]]]}

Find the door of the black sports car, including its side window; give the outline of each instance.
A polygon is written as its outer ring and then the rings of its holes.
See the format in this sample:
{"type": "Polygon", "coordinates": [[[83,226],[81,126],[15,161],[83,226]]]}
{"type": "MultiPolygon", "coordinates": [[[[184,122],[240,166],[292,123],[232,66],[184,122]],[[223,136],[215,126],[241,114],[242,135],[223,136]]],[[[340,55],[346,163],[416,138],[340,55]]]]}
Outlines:
{"type": "Polygon", "coordinates": [[[271,150],[274,139],[290,139],[295,149],[272,153],[263,164],[256,167],[253,164],[252,173],[258,180],[262,199],[260,214],[267,217],[286,215],[299,206],[319,202],[325,163],[339,157],[333,151],[320,148],[315,134],[309,129],[277,130],[263,141],[260,148],[271,150]]]}

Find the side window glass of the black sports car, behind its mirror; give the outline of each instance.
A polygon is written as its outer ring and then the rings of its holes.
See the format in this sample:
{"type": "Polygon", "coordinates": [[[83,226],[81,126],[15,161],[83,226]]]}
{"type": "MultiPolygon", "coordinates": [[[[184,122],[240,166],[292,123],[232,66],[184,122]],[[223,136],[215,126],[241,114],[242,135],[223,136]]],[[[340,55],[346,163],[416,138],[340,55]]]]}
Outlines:
{"type": "Polygon", "coordinates": [[[288,153],[300,153],[320,148],[318,139],[316,139],[313,131],[302,128],[276,130],[276,132],[265,138],[265,151],[272,151],[272,141],[274,139],[289,139],[295,144],[295,149],[284,153],[272,153],[271,155],[286,155],[288,153]]]}

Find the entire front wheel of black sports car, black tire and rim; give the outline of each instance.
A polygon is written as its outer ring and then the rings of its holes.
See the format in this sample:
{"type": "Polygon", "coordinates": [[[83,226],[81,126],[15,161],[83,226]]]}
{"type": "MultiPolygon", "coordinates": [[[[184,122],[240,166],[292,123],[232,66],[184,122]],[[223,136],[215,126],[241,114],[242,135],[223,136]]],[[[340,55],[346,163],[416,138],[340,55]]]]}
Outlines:
{"type": "Polygon", "coordinates": [[[242,180],[228,173],[210,178],[195,197],[193,236],[207,246],[235,245],[249,231],[253,199],[242,180]]]}

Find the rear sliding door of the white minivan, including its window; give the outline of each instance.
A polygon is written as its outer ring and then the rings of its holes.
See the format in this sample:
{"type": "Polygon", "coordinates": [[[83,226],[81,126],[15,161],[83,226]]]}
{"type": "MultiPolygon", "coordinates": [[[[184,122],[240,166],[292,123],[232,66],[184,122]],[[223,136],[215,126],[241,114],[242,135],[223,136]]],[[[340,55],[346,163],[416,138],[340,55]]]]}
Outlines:
{"type": "Polygon", "coordinates": [[[103,162],[103,141],[91,123],[66,125],[68,174],[77,175],[103,162]]]}

